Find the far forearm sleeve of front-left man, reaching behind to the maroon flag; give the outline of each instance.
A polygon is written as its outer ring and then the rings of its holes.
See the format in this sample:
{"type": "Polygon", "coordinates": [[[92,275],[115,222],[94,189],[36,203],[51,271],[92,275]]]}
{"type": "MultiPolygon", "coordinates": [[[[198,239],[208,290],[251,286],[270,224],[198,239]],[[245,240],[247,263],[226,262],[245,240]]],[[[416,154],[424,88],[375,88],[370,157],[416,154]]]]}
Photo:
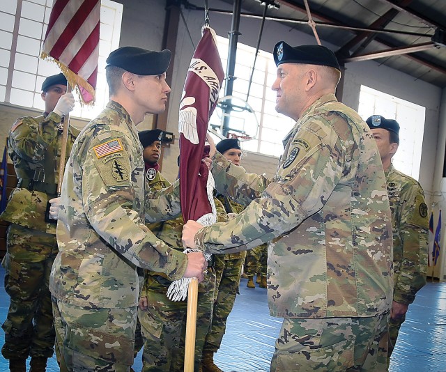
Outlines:
{"type": "Polygon", "coordinates": [[[160,190],[148,187],[146,195],[146,222],[166,221],[178,217],[180,207],[180,181],[160,190]]]}

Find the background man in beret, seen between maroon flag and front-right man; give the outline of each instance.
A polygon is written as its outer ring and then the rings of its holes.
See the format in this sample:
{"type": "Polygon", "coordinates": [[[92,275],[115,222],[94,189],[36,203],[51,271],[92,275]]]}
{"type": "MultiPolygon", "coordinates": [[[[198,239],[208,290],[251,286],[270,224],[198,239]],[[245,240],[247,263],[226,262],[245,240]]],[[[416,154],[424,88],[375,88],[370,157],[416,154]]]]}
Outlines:
{"type": "MultiPolygon", "coordinates": [[[[238,139],[223,139],[217,144],[217,148],[229,162],[240,166],[242,151],[238,139]]],[[[243,206],[231,201],[219,192],[216,198],[220,200],[229,217],[238,215],[243,210],[243,206]]],[[[203,346],[203,372],[222,371],[218,368],[213,359],[213,355],[220,349],[224,332],[226,330],[226,320],[236,300],[238,286],[240,284],[240,274],[246,252],[231,254],[218,254],[215,256],[215,271],[217,274],[217,297],[215,299],[212,324],[206,336],[203,346]]]]}

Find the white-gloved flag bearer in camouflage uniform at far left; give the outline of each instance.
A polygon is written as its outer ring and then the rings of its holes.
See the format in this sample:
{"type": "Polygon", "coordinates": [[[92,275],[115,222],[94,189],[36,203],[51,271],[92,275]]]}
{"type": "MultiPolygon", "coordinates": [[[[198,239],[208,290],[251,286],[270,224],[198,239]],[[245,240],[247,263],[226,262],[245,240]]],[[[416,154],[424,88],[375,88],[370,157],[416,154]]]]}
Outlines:
{"type": "MultiPolygon", "coordinates": [[[[45,219],[47,202],[56,196],[61,161],[61,121],[75,104],[66,93],[63,74],[47,77],[42,84],[45,112],[18,118],[10,129],[8,151],[18,184],[1,219],[10,222],[7,232],[5,289],[10,307],[3,330],[1,352],[11,371],[45,371],[54,353],[54,326],[49,272],[57,254],[56,221],[45,219]]],[[[70,127],[68,152],[79,131],[70,127]]],[[[65,160],[64,160],[65,161],[65,160]]]]}

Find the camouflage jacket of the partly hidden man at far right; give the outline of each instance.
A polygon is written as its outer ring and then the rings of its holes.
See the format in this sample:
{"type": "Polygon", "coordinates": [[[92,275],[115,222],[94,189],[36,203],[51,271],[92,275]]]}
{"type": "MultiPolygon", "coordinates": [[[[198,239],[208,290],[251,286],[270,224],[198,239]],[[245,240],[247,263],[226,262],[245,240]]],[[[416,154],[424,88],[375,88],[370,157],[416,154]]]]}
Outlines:
{"type": "Polygon", "coordinates": [[[426,284],[429,219],[424,192],[413,178],[385,172],[392,210],[394,301],[411,304],[426,284]]]}

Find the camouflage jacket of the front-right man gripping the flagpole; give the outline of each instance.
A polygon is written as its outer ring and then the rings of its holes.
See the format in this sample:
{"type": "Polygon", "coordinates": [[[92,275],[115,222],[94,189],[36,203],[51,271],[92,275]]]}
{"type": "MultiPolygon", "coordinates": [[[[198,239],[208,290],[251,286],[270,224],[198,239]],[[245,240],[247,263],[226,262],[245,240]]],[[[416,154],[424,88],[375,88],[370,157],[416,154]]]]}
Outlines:
{"type": "Polygon", "coordinates": [[[201,228],[207,251],[268,244],[268,302],[284,318],[366,317],[392,303],[392,225],[383,166],[367,125],[334,95],[309,107],[284,139],[268,180],[215,155],[217,189],[252,203],[201,228]]]}

